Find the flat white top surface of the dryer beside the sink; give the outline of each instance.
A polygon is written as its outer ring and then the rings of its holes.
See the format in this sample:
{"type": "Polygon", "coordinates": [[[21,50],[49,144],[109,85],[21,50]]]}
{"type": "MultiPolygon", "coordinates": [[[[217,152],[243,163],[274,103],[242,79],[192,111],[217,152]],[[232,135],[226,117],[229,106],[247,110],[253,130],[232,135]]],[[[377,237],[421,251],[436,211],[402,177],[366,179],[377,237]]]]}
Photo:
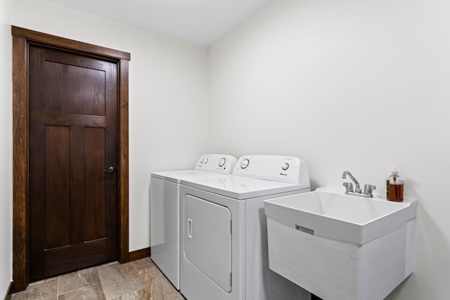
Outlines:
{"type": "Polygon", "coordinates": [[[309,183],[283,183],[241,176],[221,176],[192,180],[182,179],[181,184],[238,200],[275,195],[294,190],[309,190],[310,188],[309,183]]]}

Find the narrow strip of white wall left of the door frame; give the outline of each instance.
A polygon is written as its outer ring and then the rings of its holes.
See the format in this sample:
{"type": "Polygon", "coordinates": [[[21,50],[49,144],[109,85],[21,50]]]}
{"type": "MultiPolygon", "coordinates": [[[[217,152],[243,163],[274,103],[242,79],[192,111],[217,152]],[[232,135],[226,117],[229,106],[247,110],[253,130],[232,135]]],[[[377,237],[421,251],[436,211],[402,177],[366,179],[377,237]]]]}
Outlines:
{"type": "Polygon", "coordinates": [[[0,297],[13,279],[12,0],[0,0],[0,297]]]}

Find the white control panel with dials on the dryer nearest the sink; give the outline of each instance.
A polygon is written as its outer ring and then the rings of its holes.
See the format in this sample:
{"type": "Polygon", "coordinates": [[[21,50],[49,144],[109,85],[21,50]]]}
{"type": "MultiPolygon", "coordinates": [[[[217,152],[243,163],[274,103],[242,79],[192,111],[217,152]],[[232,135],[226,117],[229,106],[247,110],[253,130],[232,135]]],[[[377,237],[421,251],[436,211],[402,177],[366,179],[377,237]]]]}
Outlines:
{"type": "Polygon", "coordinates": [[[238,159],[233,175],[285,183],[309,183],[306,163],[290,156],[244,155],[238,159]]]}

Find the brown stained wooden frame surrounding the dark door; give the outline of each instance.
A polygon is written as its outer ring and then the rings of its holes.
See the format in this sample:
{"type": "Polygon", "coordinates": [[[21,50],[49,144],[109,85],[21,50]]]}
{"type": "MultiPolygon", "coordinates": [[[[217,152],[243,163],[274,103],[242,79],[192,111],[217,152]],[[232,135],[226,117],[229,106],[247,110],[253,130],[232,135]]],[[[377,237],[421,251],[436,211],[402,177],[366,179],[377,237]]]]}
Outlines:
{"type": "Polygon", "coordinates": [[[13,286],[26,289],[28,270],[28,46],[39,44],[117,63],[118,96],[118,260],[129,261],[128,65],[130,54],[11,26],[13,35],[13,286]]]}

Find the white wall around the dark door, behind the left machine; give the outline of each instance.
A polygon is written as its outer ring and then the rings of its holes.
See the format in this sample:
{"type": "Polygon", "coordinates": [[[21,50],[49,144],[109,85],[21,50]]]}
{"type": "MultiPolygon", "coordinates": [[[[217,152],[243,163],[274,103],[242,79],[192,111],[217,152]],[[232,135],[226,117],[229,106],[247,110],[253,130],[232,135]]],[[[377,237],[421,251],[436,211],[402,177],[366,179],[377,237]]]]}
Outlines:
{"type": "Polygon", "coordinates": [[[129,250],[150,247],[150,172],[209,150],[207,49],[45,0],[13,1],[13,25],[131,53],[129,250]]]}

